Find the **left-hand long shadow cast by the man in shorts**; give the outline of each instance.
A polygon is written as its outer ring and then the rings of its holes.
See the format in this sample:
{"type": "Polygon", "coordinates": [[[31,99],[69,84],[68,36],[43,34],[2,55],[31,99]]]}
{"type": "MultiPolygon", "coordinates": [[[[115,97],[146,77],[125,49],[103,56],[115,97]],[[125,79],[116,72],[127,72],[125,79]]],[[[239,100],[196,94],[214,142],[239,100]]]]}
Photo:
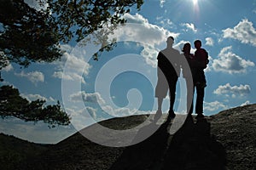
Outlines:
{"type": "Polygon", "coordinates": [[[172,119],[168,117],[162,125],[152,122],[141,128],[134,140],[142,138],[143,134],[147,134],[152,129],[158,129],[143,142],[126,147],[109,170],[158,169],[156,167],[160,167],[167,148],[167,140],[170,136],[167,128],[171,122],[172,119]]]}

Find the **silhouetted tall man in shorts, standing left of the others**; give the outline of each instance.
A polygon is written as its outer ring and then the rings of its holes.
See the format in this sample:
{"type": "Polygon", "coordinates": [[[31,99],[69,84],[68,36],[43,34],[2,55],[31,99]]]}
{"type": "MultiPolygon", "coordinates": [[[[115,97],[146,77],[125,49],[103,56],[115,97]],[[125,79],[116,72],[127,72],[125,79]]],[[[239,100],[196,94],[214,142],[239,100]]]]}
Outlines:
{"type": "Polygon", "coordinates": [[[167,38],[167,47],[160,51],[158,59],[158,82],[155,88],[155,97],[158,98],[158,110],[156,117],[162,114],[163,99],[166,98],[168,89],[170,95],[169,117],[174,117],[173,105],[175,102],[177,77],[180,74],[180,54],[177,49],[172,48],[174,38],[167,38]]]}

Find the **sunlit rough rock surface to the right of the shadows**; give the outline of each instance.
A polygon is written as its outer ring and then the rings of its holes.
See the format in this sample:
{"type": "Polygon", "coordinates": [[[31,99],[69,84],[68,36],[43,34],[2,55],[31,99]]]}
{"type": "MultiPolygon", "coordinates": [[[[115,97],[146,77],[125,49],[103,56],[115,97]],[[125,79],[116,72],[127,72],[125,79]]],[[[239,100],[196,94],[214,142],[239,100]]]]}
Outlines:
{"type": "Polygon", "coordinates": [[[256,105],[221,111],[211,116],[211,127],[226,150],[228,169],[256,169],[256,105]]]}

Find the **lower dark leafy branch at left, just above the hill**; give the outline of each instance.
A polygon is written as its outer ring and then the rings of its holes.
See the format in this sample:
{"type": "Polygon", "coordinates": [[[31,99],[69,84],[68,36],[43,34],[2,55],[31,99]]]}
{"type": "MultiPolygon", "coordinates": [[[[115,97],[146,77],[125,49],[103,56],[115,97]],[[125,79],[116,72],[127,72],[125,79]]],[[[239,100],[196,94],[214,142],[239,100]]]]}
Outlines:
{"type": "Polygon", "coordinates": [[[11,86],[0,88],[0,116],[3,118],[15,116],[26,122],[43,121],[49,127],[68,125],[70,117],[61,111],[61,105],[45,105],[44,100],[28,101],[20,96],[19,90],[11,86]]]}

